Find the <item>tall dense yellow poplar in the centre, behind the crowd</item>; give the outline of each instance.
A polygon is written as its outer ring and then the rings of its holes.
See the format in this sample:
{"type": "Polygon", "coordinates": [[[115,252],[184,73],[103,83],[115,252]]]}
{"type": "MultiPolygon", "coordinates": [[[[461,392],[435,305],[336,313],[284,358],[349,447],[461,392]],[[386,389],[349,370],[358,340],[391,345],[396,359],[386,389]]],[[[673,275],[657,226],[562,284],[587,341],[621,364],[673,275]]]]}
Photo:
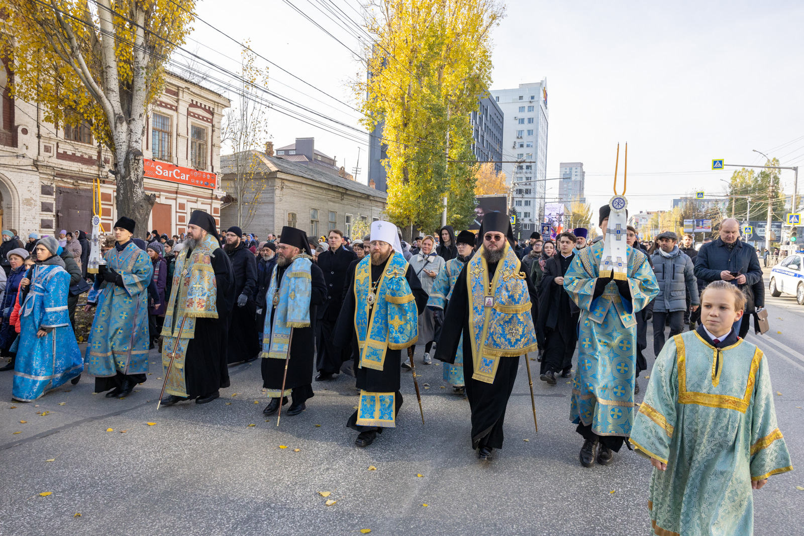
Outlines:
{"type": "Polygon", "coordinates": [[[488,94],[503,10],[495,0],[377,0],[368,10],[368,77],[353,89],[364,126],[384,122],[386,212],[400,227],[439,227],[445,194],[447,223],[470,223],[474,165],[447,160],[474,161],[470,113],[488,94]]]}

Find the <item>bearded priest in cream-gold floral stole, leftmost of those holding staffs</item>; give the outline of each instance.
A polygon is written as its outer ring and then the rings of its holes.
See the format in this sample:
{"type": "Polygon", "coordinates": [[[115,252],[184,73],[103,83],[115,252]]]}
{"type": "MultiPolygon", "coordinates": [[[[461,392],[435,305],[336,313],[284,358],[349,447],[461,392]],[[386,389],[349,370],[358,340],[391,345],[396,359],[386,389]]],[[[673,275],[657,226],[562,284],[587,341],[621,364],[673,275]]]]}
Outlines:
{"type": "Polygon", "coordinates": [[[220,248],[215,219],[193,211],[162,325],[163,406],[191,399],[208,403],[229,387],[228,316],[235,299],[232,264],[220,248]]]}

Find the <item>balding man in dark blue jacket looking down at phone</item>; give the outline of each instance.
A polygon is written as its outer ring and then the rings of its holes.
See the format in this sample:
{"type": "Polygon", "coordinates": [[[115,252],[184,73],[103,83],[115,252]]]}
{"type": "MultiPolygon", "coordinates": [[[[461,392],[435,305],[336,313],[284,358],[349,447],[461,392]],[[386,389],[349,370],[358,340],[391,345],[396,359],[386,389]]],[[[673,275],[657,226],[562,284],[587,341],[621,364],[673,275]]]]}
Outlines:
{"type": "Polygon", "coordinates": [[[720,223],[720,238],[701,246],[695,257],[695,276],[704,281],[704,286],[724,280],[745,292],[746,314],[734,325],[740,337],[745,338],[750,325],[747,315],[765,306],[765,285],[757,250],[740,240],[740,223],[736,219],[724,219],[720,223]]]}

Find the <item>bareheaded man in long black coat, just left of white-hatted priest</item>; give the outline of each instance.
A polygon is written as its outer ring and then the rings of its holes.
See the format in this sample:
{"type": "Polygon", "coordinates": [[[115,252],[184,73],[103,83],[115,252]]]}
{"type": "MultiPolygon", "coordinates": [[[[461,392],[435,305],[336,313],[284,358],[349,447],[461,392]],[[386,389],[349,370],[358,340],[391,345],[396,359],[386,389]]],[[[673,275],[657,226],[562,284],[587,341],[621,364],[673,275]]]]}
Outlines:
{"type": "Polygon", "coordinates": [[[326,382],[338,374],[343,362],[351,356],[351,349],[333,345],[333,330],[338,321],[338,313],[343,305],[343,288],[347,286],[347,272],[352,261],[357,260],[355,252],[343,247],[343,233],[338,229],[330,231],[327,238],[330,248],[318,254],[318,268],[324,273],[326,282],[326,303],[318,307],[318,370],[317,382],[326,382]]]}

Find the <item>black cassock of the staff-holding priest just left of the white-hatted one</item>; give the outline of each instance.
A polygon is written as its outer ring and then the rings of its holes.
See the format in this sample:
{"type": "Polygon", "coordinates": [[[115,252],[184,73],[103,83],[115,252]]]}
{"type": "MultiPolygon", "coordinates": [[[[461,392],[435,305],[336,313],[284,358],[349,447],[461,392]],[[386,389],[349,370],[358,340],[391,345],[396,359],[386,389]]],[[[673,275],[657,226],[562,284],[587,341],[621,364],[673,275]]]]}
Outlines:
{"type": "MultiPolygon", "coordinates": [[[[287,266],[279,264],[273,267],[277,272],[277,285],[281,285],[282,277],[285,276],[287,266]]],[[[273,274],[271,275],[273,277],[273,274]]],[[[288,376],[285,378],[285,390],[293,389],[293,403],[300,404],[306,399],[313,398],[313,365],[315,358],[315,325],[316,309],[318,305],[326,302],[326,284],[321,268],[313,263],[310,266],[310,326],[306,328],[293,328],[293,340],[290,342],[290,360],[288,362],[288,376]]],[[[277,309],[273,309],[271,299],[266,297],[271,316],[266,317],[273,325],[273,315],[277,309]]],[[[263,343],[265,344],[265,342],[263,343]]],[[[262,370],[262,387],[265,389],[282,388],[282,377],[285,375],[285,359],[262,358],[260,360],[262,370]]]]}

